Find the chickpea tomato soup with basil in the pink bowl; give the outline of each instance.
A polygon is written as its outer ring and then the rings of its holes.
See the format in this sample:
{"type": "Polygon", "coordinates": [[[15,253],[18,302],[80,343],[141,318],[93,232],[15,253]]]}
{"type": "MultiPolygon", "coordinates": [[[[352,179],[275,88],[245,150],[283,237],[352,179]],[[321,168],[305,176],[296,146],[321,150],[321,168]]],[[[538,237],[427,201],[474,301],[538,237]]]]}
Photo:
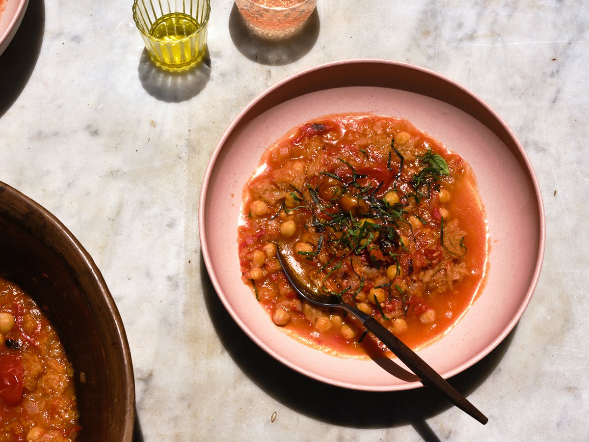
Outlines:
{"type": "Polygon", "coordinates": [[[299,299],[276,243],[321,292],[412,348],[465,314],[489,253],[464,159],[407,120],[373,114],[317,118],[268,147],[244,186],[237,242],[243,282],[274,324],[344,357],[386,349],[352,315],[299,299]]]}

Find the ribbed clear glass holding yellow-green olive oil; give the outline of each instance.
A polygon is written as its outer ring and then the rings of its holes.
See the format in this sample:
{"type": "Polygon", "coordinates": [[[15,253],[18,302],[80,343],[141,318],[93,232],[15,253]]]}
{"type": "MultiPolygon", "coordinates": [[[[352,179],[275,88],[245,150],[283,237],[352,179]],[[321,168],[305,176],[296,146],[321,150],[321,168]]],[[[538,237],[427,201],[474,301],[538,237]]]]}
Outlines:
{"type": "Polygon", "coordinates": [[[151,60],[170,70],[197,64],[207,47],[210,0],[135,0],[133,20],[151,60]]]}

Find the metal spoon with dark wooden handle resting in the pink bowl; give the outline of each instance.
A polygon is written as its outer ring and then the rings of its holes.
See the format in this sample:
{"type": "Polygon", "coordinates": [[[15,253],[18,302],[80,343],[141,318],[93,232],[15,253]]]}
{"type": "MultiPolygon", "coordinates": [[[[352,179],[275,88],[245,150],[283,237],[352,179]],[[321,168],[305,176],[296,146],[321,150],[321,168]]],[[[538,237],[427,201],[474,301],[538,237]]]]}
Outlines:
{"type": "Polygon", "coordinates": [[[339,307],[356,316],[356,318],[362,321],[366,329],[375,335],[376,338],[380,339],[424,384],[434,387],[435,390],[448,398],[456,407],[474,417],[481,424],[488,422],[487,416],[482,414],[477,407],[472,405],[468,399],[452,387],[438,372],[423,361],[411,348],[407,347],[401,339],[397,338],[385,326],[376,321],[373,316],[361,311],[355,305],[343,302],[337,296],[323,295],[311,286],[311,281],[303,281],[302,276],[294,271],[294,268],[297,267],[296,259],[294,259],[293,255],[286,253],[285,250],[286,248],[282,244],[276,243],[276,256],[280,267],[282,267],[294,291],[299,293],[302,298],[318,306],[339,307]]]}

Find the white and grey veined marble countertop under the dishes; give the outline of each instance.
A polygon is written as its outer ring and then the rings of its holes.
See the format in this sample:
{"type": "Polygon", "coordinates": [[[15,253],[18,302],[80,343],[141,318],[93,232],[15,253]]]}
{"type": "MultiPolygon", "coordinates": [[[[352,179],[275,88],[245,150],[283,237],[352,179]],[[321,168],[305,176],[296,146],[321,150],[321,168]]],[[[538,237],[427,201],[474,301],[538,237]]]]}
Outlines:
{"type": "Polygon", "coordinates": [[[280,46],[251,39],[233,2],[211,3],[210,60],[190,75],[151,65],[130,1],[30,0],[0,57],[0,180],[101,269],[131,348],[137,440],[585,439],[589,7],[319,0],[309,32],[280,46]],[[547,243],[534,297],[452,378],[487,425],[425,388],[340,390],[290,371],[240,331],[204,269],[198,199],[223,131],[271,85],[346,58],[409,62],[474,91],[537,173],[547,243]]]}

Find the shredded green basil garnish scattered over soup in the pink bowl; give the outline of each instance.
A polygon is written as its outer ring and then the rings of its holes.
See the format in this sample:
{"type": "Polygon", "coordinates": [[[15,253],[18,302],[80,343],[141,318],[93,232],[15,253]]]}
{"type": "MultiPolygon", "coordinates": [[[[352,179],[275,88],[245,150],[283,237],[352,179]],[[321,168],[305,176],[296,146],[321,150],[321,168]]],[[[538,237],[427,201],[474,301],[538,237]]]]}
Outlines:
{"type": "MultiPolygon", "coordinates": [[[[366,150],[360,149],[360,153],[369,158],[369,153],[366,150]]],[[[283,203],[282,210],[287,214],[296,210],[308,210],[310,212],[312,223],[310,226],[305,227],[307,229],[314,227],[315,232],[320,233],[319,239],[315,251],[298,253],[305,256],[305,259],[316,262],[316,272],[321,275],[318,278],[321,279],[320,288],[323,292],[341,297],[344,293],[352,290],[351,286],[348,286],[338,292],[328,288],[326,285],[330,276],[342,268],[343,260],[349,259],[351,273],[355,274],[359,280],[356,289],[353,290],[353,293],[350,293],[353,301],[357,302],[356,297],[365,290],[365,279],[354,268],[354,256],[359,257],[357,259],[361,258],[363,265],[374,268],[383,265],[395,265],[394,278],[401,275],[399,255],[402,254],[402,251],[409,252],[413,248],[410,243],[403,240],[405,236],[402,236],[400,232],[408,228],[412,233],[410,236],[411,241],[416,240],[413,226],[409,223],[409,216],[418,219],[423,226],[428,225],[428,220],[427,217],[424,219],[418,213],[415,213],[417,207],[415,203],[419,204],[422,199],[431,198],[433,192],[439,190],[442,177],[448,176],[450,171],[445,159],[428,147],[425,153],[416,156],[415,160],[411,160],[409,167],[411,167],[412,176],[404,179],[403,182],[399,182],[403,172],[406,172],[403,168],[407,164],[405,164],[403,155],[396,149],[394,139],[391,141],[391,149],[388,151],[388,157],[386,157],[386,170],[383,167],[378,172],[380,174],[389,173],[388,178],[391,179],[391,184],[390,186],[386,184],[389,186],[388,188],[383,189],[385,181],[376,180],[370,173],[359,173],[349,161],[343,158],[337,160],[345,164],[349,171],[338,169],[335,172],[319,171],[317,173],[319,176],[329,177],[337,182],[337,190],[334,190],[333,195],[325,196],[322,194],[322,190],[320,190],[322,184],[318,181],[313,182],[310,180],[306,183],[305,189],[301,190],[290,184],[292,192],[289,195],[294,201],[294,204],[291,204],[294,207],[288,208],[283,203]],[[398,158],[396,164],[393,164],[395,159],[393,153],[398,158]],[[392,177],[391,175],[397,166],[398,170],[395,176],[392,177]],[[385,202],[382,194],[389,190],[395,190],[399,194],[400,200],[398,202],[390,204],[385,202]],[[342,197],[350,199],[351,209],[348,207],[346,207],[348,210],[343,209],[343,203],[340,203],[342,197]],[[400,250],[402,251],[400,252],[400,250]]],[[[330,185],[333,185],[333,183],[330,183],[330,185]]],[[[274,215],[272,219],[275,219],[276,216],[274,215]]],[[[465,255],[464,237],[460,241],[460,247],[464,249],[462,255],[452,252],[445,245],[443,217],[440,226],[440,240],[441,246],[452,256],[460,258],[465,255]]],[[[410,259],[407,275],[411,276],[412,272],[413,261],[410,259]]],[[[254,285],[257,299],[255,283],[253,280],[250,281],[254,285]]],[[[355,286],[356,283],[353,285],[355,286]]],[[[376,288],[387,288],[388,301],[390,302],[393,298],[400,299],[403,314],[407,314],[409,303],[399,284],[388,282],[378,285],[376,288]],[[393,293],[393,286],[398,295],[393,293]]],[[[382,318],[389,320],[376,296],[374,300],[382,318]]]]}

